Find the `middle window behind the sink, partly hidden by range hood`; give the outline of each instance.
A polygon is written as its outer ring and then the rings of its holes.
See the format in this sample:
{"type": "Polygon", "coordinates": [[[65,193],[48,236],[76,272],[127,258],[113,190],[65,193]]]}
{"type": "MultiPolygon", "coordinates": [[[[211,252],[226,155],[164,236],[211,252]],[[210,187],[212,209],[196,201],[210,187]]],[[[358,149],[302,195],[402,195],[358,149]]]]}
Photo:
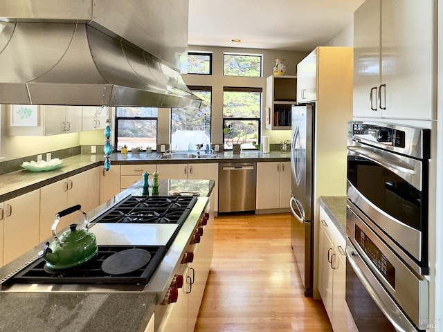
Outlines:
{"type": "Polygon", "coordinates": [[[188,86],[189,89],[208,103],[205,108],[171,109],[171,149],[188,151],[190,145],[195,150],[195,145],[204,147],[210,144],[210,117],[211,117],[211,88],[210,86],[188,86]]]}

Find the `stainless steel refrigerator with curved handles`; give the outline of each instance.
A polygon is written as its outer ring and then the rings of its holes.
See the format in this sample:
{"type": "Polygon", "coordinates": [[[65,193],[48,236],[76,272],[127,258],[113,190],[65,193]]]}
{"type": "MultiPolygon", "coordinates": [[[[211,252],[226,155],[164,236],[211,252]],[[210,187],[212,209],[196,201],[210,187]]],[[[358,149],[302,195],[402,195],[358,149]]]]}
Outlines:
{"type": "Polygon", "coordinates": [[[305,296],[312,296],[314,274],[314,111],[315,104],[291,109],[291,246],[305,296]]]}

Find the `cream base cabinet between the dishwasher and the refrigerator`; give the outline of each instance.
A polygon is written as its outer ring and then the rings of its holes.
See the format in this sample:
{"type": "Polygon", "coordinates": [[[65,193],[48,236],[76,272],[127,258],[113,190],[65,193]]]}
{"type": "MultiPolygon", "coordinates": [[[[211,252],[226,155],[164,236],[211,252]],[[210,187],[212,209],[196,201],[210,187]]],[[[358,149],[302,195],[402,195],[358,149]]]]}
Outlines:
{"type": "Polygon", "coordinates": [[[291,163],[257,163],[257,210],[289,208],[291,163]]]}

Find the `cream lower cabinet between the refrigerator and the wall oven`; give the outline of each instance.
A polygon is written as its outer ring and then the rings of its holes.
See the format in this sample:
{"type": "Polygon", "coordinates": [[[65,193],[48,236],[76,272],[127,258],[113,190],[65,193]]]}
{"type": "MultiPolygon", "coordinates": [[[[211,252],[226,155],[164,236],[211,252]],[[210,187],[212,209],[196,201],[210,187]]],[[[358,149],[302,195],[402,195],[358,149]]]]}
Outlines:
{"type": "Polygon", "coordinates": [[[318,230],[318,291],[332,329],[347,331],[345,316],[345,239],[320,207],[318,230]]]}

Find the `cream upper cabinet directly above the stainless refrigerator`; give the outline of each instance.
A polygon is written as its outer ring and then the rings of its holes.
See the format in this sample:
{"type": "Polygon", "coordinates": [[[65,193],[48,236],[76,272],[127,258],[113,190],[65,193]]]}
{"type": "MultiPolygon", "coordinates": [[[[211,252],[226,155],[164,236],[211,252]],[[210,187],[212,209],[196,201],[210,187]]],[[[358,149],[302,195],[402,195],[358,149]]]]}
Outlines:
{"type": "Polygon", "coordinates": [[[317,100],[317,48],[297,64],[297,101],[315,102],[317,100]]]}

